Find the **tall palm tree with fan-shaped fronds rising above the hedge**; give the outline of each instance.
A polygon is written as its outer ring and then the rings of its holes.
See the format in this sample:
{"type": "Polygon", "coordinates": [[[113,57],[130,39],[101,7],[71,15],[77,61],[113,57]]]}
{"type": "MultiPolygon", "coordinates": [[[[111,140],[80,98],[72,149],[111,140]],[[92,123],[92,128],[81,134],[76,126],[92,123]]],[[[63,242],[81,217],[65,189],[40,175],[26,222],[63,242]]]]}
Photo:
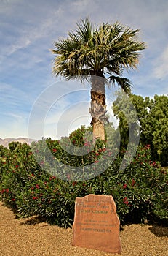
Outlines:
{"type": "Polygon", "coordinates": [[[139,29],[116,22],[94,26],[89,18],[77,23],[67,39],[55,42],[56,54],[53,73],[67,80],[89,79],[91,82],[91,108],[93,135],[105,140],[105,80],[117,83],[127,94],[131,82],[123,78],[124,69],[137,68],[140,51],[145,43],[137,40],[139,29]]]}

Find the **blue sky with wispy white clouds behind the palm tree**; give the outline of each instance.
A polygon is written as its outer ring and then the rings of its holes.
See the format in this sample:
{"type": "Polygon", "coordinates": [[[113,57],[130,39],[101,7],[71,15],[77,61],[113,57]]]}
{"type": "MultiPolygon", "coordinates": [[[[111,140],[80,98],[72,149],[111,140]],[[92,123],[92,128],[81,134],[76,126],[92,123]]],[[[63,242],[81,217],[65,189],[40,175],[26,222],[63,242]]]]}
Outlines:
{"type": "Polygon", "coordinates": [[[168,94],[168,1],[0,0],[0,138],[57,138],[89,125],[89,86],[55,78],[49,50],[86,17],[140,29],[147,49],[124,75],[133,94],[168,94]]]}

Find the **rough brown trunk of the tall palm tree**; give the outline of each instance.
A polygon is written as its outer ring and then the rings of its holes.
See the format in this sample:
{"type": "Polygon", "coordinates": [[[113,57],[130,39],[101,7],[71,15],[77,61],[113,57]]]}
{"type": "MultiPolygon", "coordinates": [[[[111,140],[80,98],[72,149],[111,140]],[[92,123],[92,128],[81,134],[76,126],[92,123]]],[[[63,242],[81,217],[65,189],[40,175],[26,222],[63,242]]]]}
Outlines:
{"type": "Polygon", "coordinates": [[[105,116],[105,78],[100,76],[92,76],[91,88],[91,108],[89,112],[92,116],[91,125],[93,127],[93,137],[105,140],[105,121],[108,118],[105,116]]]}

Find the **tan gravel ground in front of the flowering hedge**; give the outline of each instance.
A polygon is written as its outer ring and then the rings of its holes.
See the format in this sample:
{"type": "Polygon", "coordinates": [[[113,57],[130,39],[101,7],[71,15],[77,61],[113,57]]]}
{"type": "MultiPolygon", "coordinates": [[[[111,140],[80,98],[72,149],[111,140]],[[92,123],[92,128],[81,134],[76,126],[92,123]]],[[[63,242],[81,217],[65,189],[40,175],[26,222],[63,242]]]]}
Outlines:
{"type": "MultiPolygon", "coordinates": [[[[113,256],[71,246],[71,229],[38,222],[35,217],[15,219],[15,214],[1,202],[0,225],[0,256],[113,256]]],[[[120,236],[120,256],[168,255],[168,227],[129,225],[124,227],[120,236]]]]}

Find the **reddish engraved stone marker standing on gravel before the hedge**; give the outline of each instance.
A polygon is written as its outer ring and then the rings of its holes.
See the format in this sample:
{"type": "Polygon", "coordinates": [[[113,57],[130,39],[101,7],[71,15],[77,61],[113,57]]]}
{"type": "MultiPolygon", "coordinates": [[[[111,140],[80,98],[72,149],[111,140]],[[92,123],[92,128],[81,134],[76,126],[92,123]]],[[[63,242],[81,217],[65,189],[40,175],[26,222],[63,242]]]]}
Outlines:
{"type": "Polygon", "coordinates": [[[119,217],[111,195],[76,197],[72,245],[121,253],[119,217]]]}

